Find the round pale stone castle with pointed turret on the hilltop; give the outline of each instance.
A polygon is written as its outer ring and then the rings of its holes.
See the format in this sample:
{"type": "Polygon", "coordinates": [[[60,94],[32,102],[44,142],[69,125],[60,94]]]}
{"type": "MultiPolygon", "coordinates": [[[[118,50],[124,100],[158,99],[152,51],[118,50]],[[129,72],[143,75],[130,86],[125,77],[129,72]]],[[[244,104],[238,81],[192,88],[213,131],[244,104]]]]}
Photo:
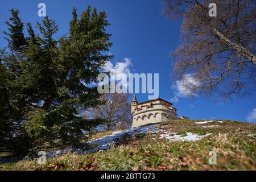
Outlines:
{"type": "Polygon", "coordinates": [[[177,109],[172,107],[171,102],[165,101],[162,98],[138,103],[134,94],[133,101],[131,101],[131,113],[133,114],[133,124],[131,127],[140,127],[148,123],[159,123],[175,119],[188,119],[185,116],[178,118],[176,111],[177,109]]]}

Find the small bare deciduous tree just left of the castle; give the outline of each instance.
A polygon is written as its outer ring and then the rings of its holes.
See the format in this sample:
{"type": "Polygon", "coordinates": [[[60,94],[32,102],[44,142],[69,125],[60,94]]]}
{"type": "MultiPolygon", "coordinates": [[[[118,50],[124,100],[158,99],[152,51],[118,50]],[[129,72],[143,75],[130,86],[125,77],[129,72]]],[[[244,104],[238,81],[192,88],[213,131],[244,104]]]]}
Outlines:
{"type": "Polygon", "coordinates": [[[106,119],[103,126],[105,130],[125,129],[130,127],[132,121],[129,94],[102,94],[105,104],[89,109],[92,118],[106,119]]]}

